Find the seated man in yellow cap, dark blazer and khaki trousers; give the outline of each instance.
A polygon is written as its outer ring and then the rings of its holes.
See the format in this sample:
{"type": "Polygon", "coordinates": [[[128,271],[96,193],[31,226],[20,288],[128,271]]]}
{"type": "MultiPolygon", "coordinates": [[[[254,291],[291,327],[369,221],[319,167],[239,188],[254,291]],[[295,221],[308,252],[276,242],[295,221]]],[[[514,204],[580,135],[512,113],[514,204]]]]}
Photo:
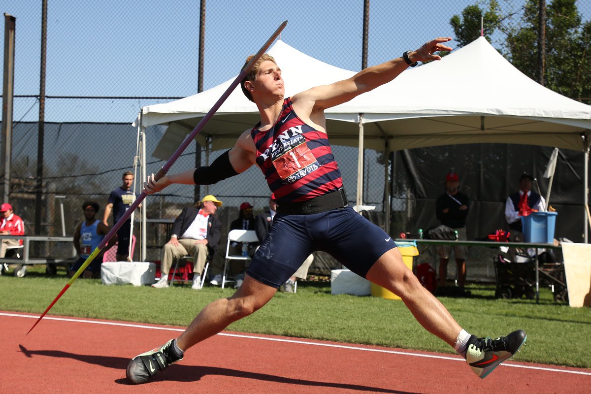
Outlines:
{"type": "Polygon", "coordinates": [[[201,273],[208,258],[213,258],[220,242],[222,223],[215,217],[222,201],[212,195],[203,197],[199,208],[186,207],[174,220],[170,240],[164,245],[160,259],[160,279],[152,285],[155,288],[168,287],[168,273],[177,259],[183,256],[193,258],[193,284],[200,289],[201,273]]]}

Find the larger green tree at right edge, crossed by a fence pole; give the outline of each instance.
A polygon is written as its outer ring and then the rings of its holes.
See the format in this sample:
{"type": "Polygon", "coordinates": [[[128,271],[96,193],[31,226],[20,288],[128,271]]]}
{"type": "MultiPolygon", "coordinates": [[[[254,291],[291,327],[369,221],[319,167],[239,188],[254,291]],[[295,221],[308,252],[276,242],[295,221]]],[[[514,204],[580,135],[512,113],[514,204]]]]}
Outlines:
{"type": "MultiPolygon", "coordinates": [[[[575,2],[554,0],[547,5],[544,80],[548,89],[591,104],[591,22],[582,22],[575,2]]],[[[522,20],[507,36],[508,57],[522,73],[537,80],[538,0],[527,0],[522,20]]]]}

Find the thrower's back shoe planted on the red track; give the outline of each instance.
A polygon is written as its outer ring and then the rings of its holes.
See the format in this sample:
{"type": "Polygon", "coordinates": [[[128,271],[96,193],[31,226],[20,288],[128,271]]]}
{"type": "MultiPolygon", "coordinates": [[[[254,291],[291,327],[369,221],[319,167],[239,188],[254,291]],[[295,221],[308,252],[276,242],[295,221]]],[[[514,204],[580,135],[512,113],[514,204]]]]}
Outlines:
{"type": "Polygon", "coordinates": [[[161,370],[164,370],[171,364],[183,360],[183,357],[177,359],[174,351],[170,349],[172,343],[173,340],[171,339],[163,346],[135,356],[129,364],[127,364],[127,369],[125,371],[127,379],[129,379],[131,383],[134,383],[134,385],[148,382],[148,379],[161,370]]]}

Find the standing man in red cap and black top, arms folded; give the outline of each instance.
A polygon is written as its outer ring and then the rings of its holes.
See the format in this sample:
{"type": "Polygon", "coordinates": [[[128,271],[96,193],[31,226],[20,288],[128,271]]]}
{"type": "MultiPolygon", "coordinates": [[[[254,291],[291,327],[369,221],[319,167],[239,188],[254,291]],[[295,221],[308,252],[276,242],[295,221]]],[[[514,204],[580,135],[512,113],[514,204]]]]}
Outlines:
{"type": "MultiPolygon", "coordinates": [[[[450,172],[445,178],[446,193],[437,198],[436,214],[441,224],[457,231],[458,239],[466,240],[466,216],[468,216],[469,200],[466,194],[460,193],[460,177],[450,172]]],[[[469,295],[464,290],[466,284],[466,246],[453,246],[456,256],[458,295],[469,295]]],[[[447,262],[452,254],[452,246],[441,245],[437,248],[439,253],[439,288],[443,291],[447,279],[447,262]]],[[[443,293],[442,293],[443,294],[443,293]]],[[[456,294],[454,292],[453,294],[456,294]]]]}

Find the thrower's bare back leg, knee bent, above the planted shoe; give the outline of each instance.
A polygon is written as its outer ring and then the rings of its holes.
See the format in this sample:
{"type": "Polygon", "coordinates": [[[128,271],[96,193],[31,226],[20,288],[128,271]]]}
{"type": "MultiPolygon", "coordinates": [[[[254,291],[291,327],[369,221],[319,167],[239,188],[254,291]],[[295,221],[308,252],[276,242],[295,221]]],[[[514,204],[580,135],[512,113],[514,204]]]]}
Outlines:
{"type": "Polygon", "coordinates": [[[213,336],[230,323],[240,320],[267,304],[276,288],[262,284],[246,275],[242,286],[230,298],[220,298],[207,305],[187,329],[177,338],[178,347],[185,351],[194,344],[213,336]]]}

